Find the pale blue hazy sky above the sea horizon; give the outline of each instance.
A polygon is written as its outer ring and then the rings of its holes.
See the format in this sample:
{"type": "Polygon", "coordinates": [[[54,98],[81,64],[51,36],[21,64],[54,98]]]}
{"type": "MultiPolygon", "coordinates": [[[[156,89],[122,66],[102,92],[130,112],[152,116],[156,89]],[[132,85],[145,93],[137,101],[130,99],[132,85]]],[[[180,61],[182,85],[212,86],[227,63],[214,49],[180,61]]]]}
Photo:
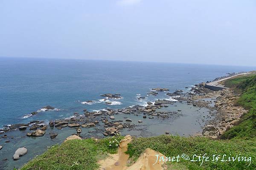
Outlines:
{"type": "Polygon", "coordinates": [[[0,0],[0,56],[256,65],[256,0],[0,0]]]}

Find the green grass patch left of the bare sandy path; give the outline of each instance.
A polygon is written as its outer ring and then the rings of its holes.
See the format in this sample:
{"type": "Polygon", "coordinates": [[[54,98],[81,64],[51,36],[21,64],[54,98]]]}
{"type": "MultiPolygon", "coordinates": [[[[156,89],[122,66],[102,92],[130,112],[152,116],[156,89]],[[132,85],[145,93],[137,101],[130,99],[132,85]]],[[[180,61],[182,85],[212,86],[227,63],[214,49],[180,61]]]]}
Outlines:
{"type": "MultiPolygon", "coordinates": [[[[120,141],[123,137],[119,136],[120,141]]],[[[112,138],[96,142],[93,139],[70,140],[49,148],[44,154],[29,161],[21,170],[97,170],[97,161],[116,153],[116,148],[109,147],[112,138]]]]}

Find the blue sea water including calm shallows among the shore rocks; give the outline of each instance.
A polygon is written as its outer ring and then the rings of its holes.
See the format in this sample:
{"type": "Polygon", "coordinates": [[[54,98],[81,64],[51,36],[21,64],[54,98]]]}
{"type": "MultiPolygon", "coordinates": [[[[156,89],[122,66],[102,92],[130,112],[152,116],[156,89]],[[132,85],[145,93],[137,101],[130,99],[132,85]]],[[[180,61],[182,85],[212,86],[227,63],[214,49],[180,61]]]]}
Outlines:
{"type": "MultiPolygon", "coordinates": [[[[0,126],[27,123],[32,120],[48,122],[70,117],[74,112],[82,113],[85,108],[93,111],[145,105],[148,101],[168,98],[165,93],[146,96],[150,88],[169,88],[171,92],[177,89],[186,90],[185,87],[224,76],[227,72],[250,70],[253,68],[154,62],[0,58],[0,126]],[[101,100],[103,97],[100,96],[105,93],[118,93],[123,98],[111,100],[113,105],[105,105],[101,100]],[[147,98],[138,101],[139,94],[147,98]],[[87,100],[96,102],[92,105],[82,104],[87,100]],[[22,118],[45,105],[51,105],[59,110],[40,112],[35,116],[22,118]]],[[[194,120],[199,120],[203,116],[202,111],[197,112],[186,107],[177,103],[177,108],[172,106],[163,108],[180,109],[183,115],[168,120],[143,120],[140,127],[135,127],[133,131],[125,129],[122,133],[137,136],[160,135],[166,130],[179,135],[197,133],[201,130],[201,125],[195,125],[194,120]]],[[[127,115],[119,114],[116,119],[124,119],[124,116],[127,115]]],[[[137,117],[130,115],[129,118],[137,119],[137,117]]],[[[134,123],[137,124],[137,121],[134,123]]],[[[8,137],[0,139],[0,145],[3,146],[0,150],[0,169],[10,170],[14,166],[20,167],[29,159],[43,153],[47,146],[61,143],[67,136],[76,132],[75,129],[66,127],[58,130],[56,139],[50,139],[49,132],[55,130],[48,129],[45,136],[37,138],[26,137],[28,130],[6,133],[8,137]],[[10,142],[6,143],[6,141],[10,142]],[[20,160],[13,161],[13,153],[18,147],[23,146],[26,146],[29,152],[20,160]],[[3,161],[3,159],[7,160],[3,161]]],[[[102,137],[102,133],[88,133],[93,130],[94,128],[83,128],[82,136],[102,137]]]]}

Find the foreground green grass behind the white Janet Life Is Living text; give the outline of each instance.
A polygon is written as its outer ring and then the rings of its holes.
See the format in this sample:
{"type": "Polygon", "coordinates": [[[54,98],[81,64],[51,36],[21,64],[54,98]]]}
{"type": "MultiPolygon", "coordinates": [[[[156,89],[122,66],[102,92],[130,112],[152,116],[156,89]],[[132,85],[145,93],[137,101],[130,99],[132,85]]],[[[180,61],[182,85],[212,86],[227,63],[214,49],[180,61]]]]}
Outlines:
{"type": "MultiPolygon", "coordinates": [[[[251,156],[248,162],[221,162],[207,161],[201,166],[201,162],[192,162],[181,159],[178,163],[169,162],[169,169],[177,170],[255,170],[256,169],[256,140],[210,140],[204,137],[180,137],[180,136],[154,136],[148,138],[137,138],[128,144],[127,153],[136,161],[146,148],[151,148],[165,156],[177,156],[185,153],[192,159],[194,154],[212,156],[214,154],[236,156],[251,156]]],[[[212,158],[212,157],[211,157],[212,158]]],[[[212,160],[212,159],[211,159],[212,160]]]]}

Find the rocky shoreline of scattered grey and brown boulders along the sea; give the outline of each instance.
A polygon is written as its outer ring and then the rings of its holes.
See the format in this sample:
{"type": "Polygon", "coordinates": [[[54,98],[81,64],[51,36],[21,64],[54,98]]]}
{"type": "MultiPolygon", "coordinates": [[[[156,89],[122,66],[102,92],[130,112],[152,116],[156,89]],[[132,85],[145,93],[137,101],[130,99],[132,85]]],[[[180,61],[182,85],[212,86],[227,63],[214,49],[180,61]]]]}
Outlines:
{"type": "MultiPolygon", "coordinates": [[[[222,91],[212,91],[204,87],[204,83],[193,86],[188,92],[184,93],[182,90],[177,90],[173,93],[169,93],[169,89],[166,88],[153,88],[148,94],[156,96],[158,93],[166,93],[167,96],[172,96],[175,101],[166,99],[157,99],[154,102],[147,102],[147,106],[135,105],[133,107],[122,109],[103,109],[101,111],[89,112],[87,109],[83,110],[83,114],[74,113],[71,118],[58,119],[49,121],[49,125],[45,125],[44,121],[32,121],[27,124],[14,124],[5,126],[0,129],[2,133],[6,133],[10,130],[26,130],[29,128],[31,132],[27,133],[27,136],[44,136],[47,128],[62,129],[65,127],[73,127],[77,133],[72,135],[80,136],[83,128],[95,127],[97,132],[102,133],[103,136],[113,136],[116,133],[120,133],[120,130],[127,128],[128,130],[134,127],[140,126],[140,123],[144,119],[166,119],[169,116],[181,116],[182,111],[163,112],[158,109],[163,107],[169,107],[174,105],[175,102],[183,103],[184,105],[191,105],[191,107],[197,107],[209,109],[210,116],[207,117],[206,125],[203,127],[202,134],[199,136],[209,137],[210,139],[220,139],[221,135],[230,129],[230,127],[239,124],[241,116],[247,113],[244,108],[236,105],[236,96],[230,89],[224,89],[222,91]],[[212,100],[207,100],[212,99],[212,100]],[[138,116],[136,120],[139,125],[135,125],[135,120],[124,117],[124,120],[115,118],[118,114],[134,114],[138,116]],[[101,123],[99,123],[101,122],[101,123]],[[101,127],[103,126],[103,127],[101,127]],[[100,128],[101,127],[101,128],[100,128]]],[[[101,96],[119,99],[120,94],[103,94],[101,96]]],[[[139,97],[138,99],[143,99],[139,97]]],[[[46,106],[42,109],[47,111],[55,109],[52,106],[46,106]]],[[[90,131],[89,131],[90,133],[90,131]]],[[[168,131],[165,132],[169,134],[168,131]]],[[[50,133],[50,138],[54,139],[58,133],[50,133]]],[[[7,135],[0,136],[5,138],[7,135]]],[[[198,136],[198,134],[197,134],[198,136]]],[[[82,137],[82,136],[80,136],[82,137]]],[[[1,147],[2,148],[2,147],[1,147]]]]}

